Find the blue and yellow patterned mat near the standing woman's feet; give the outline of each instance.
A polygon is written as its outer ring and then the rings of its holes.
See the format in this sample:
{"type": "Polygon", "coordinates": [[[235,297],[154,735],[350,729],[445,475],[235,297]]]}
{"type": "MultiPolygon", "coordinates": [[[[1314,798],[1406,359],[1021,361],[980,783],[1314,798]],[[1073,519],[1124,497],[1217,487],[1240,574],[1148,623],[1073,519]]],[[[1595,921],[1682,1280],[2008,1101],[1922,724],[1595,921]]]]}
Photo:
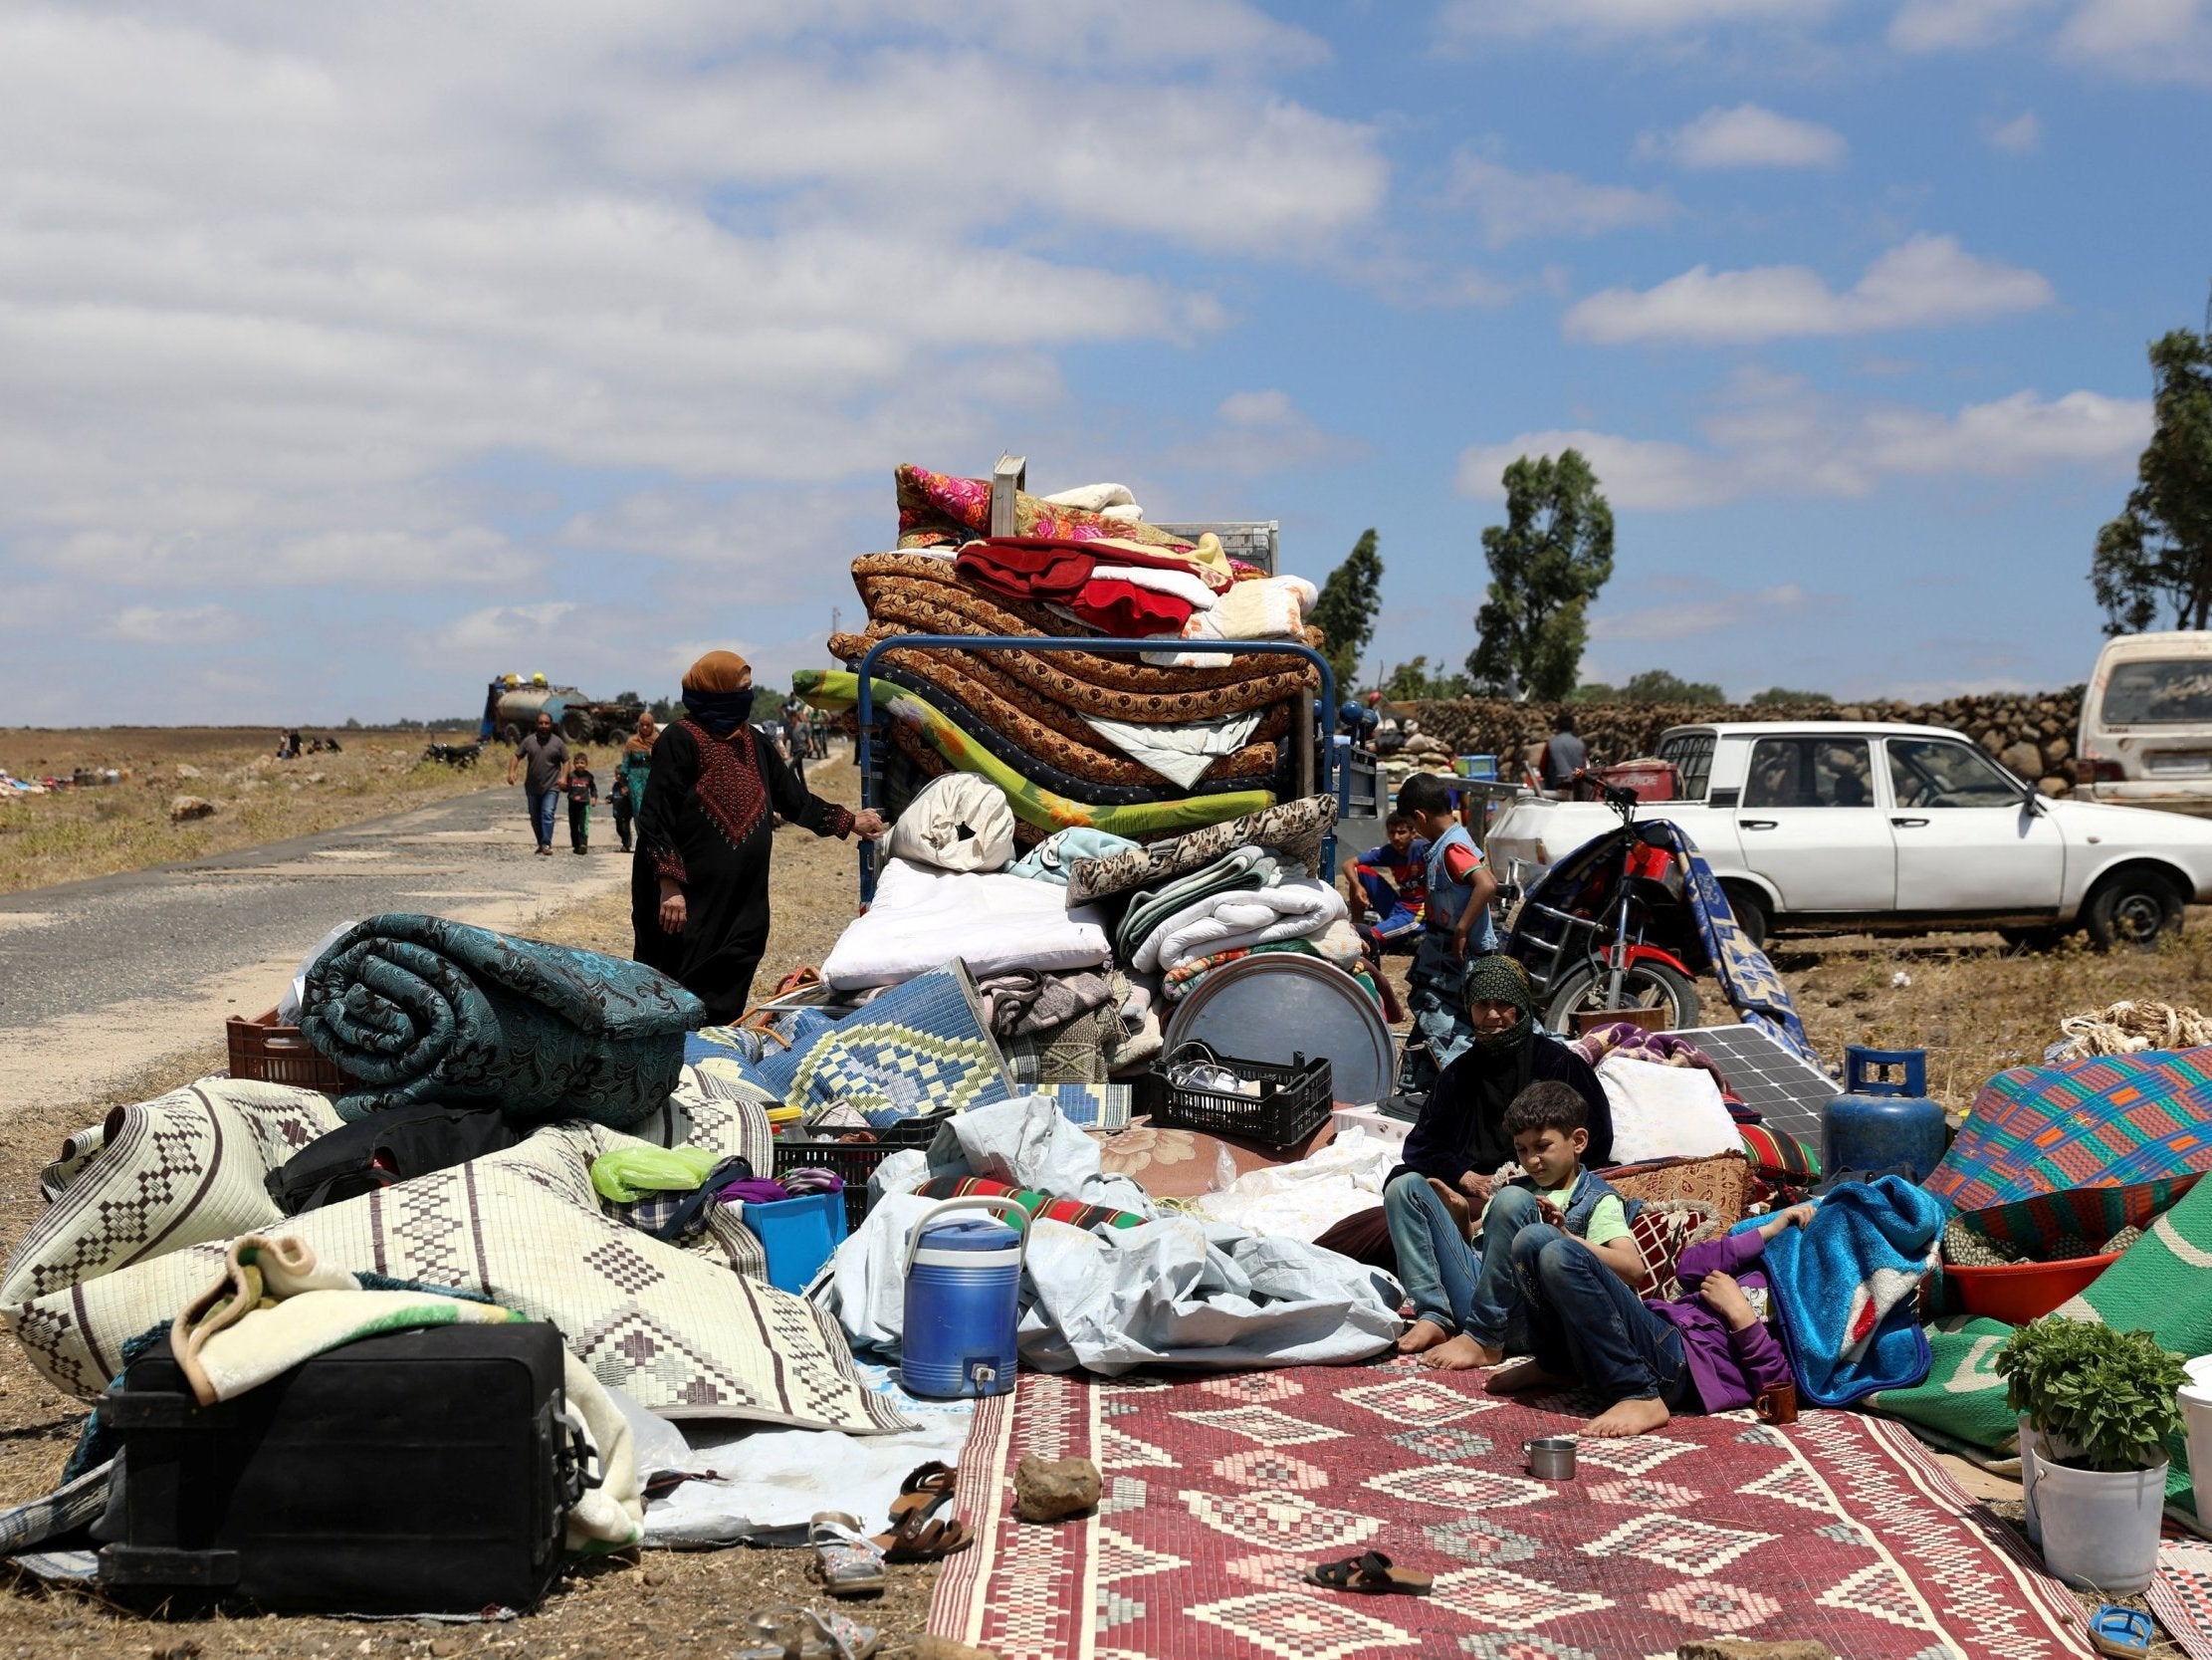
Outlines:
{"type": "Polygon", "coordinates": [[[991,1040],[967,963],[920,974],[858,1009],[794,1009],[768,1031],[695,1031],[686,1060],[759,1091],[761,1100],[814,1111],[858,1107],[876,1129],[902,1118],[1011,1100],[1013,1078],[991,1040]]]}

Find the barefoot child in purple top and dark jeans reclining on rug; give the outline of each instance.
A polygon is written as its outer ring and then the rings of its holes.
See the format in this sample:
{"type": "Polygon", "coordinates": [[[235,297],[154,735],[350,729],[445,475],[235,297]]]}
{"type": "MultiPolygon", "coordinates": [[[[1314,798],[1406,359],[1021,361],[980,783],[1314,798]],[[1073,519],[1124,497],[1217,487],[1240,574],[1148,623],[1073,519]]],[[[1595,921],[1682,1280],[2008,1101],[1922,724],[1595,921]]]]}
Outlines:
{"type": "Polygon", "coordinates": [[[1617,1439],[1663,1428],[1679,1405],[1730,1412],[1790,1383],[1754,1264],[1767,1239],[1805,1226],[1812,1211],[1794,1204],[1759,1228],[1690,1246],[1674,1264],[1686,1290],[1668,1301],[1641,1301],[1573,1239],[1542,1246],[1526,1273],[1535,1359],[1498,1372],[1491,1392],[1582,1383],[1613,1401],[1582,1434],[1617,1439]]]}

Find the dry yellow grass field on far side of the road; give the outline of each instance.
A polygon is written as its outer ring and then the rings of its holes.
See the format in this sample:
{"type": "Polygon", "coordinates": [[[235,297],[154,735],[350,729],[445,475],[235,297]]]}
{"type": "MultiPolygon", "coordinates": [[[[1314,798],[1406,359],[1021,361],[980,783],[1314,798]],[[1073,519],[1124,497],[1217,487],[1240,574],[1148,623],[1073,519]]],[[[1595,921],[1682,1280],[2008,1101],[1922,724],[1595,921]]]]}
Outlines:
{"type": "Polygon", "coordinates": [[[18,779],[75,768],[124,772],[53,795],[0,795],[0,894],[144,870],[405,812],[498,784],[498,753],[473,768],[422,761],[422,746],[462,733],[338,733],[336,755],[274,759],[276,735],[250,726],[0,728],[0,768],[18,779]],[[197,795],[208,819],[170,821],[170,801],[197,795]]]}

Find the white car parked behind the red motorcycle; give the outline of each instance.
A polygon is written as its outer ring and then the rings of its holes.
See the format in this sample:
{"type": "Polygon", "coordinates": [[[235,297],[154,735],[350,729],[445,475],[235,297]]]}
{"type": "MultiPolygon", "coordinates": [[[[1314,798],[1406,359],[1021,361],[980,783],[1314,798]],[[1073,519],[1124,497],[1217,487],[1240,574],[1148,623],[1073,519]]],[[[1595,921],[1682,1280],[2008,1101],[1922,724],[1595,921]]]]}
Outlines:
{"type": "MultiPolygon", "coordinates": [[[[2046,799],[1942,726],[1674,726],[1659,757],[1679,799],[1639,817],[1690,834],[1752,938],[1997,927],[2046,943],[2086,927],[2101,947],[2148,945],[2212,901],[2212,823],[2046,799]]],[[[1491,823],[1489,857],[1526,890],[1617,826],[1597,801],[1522,797],[1491,823]]]]}

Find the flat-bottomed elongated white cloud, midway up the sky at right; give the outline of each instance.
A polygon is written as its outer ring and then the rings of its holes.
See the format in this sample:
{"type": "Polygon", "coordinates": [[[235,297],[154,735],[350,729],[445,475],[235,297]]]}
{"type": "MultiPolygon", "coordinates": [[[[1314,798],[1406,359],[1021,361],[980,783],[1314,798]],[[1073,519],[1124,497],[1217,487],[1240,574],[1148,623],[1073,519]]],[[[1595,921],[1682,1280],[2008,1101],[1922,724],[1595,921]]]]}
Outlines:
{"type": "Polygon", "coordinates": [[[1978,323],[2051,305],[2037,272],[1978,259],[1953,237],[1913,237],[1867,266],[1845,292],[1807,266],[1712,270],[1694,266],[1657,288],[1608,288],[1566,314],[1579,341],[1688,341],[1741,345],[1820,334],[1978,323]]]}

